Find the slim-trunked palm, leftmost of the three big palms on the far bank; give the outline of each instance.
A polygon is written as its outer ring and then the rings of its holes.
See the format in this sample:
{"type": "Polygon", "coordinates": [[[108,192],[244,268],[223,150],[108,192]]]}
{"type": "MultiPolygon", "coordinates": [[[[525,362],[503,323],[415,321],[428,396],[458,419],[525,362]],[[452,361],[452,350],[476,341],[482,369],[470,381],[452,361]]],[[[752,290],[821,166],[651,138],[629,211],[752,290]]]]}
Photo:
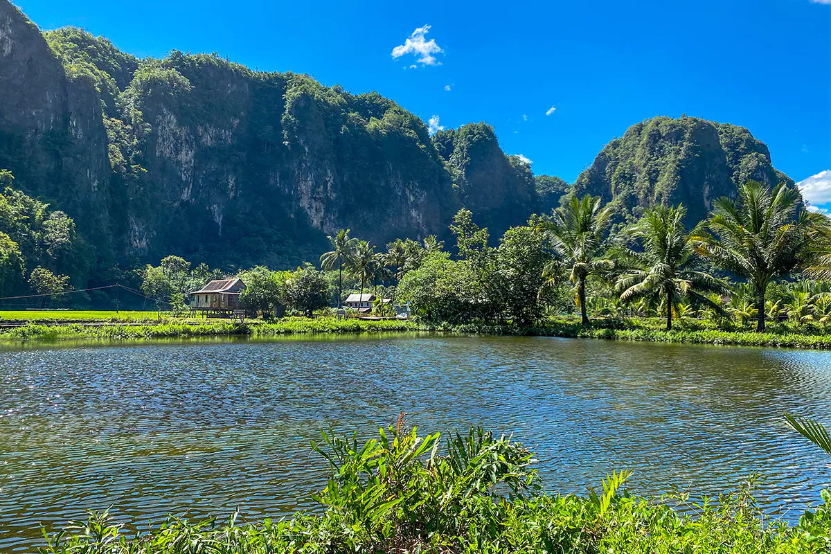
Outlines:
{"type": "MultiPolygon", "coordinates": [[[[583,199],[576,196],[553,212],[553,217],[540,224],[551,237],[553,250],[563,257],[571,273],[569,279],[578,286],[578,303],[583,325],[589,325],[586,312],[586,279],[593,273],[611,269],[612,261],[601,256],[603,232],[612,217],[611,206],[601,207],[600,197],[586,194],[583,199]]],[[[558,266],[555,261],[543,269],[543,276],[553,276],[558,266]]]]}

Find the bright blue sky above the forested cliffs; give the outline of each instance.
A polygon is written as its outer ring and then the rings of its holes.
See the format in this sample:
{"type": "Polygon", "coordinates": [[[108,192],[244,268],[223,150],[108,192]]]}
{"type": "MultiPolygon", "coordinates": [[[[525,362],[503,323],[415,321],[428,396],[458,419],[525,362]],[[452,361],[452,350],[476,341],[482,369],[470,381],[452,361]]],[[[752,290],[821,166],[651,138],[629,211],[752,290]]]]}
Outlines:
{"type": "Polygon", "coordinates": [[[629,125],[684,113],[744,125],[797,181],[831,168],[831,0],[16,3],[136,56],[216,51],[444,127],[484,120],[535,174],[569,182],[629,125]]]}

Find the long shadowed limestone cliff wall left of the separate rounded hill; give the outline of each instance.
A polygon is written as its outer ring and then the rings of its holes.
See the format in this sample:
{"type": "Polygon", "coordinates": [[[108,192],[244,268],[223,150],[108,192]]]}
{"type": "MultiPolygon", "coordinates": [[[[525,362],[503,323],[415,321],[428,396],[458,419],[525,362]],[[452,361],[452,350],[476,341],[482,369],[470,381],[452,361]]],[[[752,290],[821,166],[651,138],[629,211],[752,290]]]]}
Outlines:
{"type": "Polygon", "coordinates": [[[533,206],[511,208],[517,171],[489,134],[453,165],[456,189],[424,123],[376,93],[219,56],[137,60],[80,29],[44,35],[0,0],[0,168],[75,218],[101,263],[287,266],[338,228],[443,234],[463,203],[504,200],[499,224],[522,223],[533,206]]]}

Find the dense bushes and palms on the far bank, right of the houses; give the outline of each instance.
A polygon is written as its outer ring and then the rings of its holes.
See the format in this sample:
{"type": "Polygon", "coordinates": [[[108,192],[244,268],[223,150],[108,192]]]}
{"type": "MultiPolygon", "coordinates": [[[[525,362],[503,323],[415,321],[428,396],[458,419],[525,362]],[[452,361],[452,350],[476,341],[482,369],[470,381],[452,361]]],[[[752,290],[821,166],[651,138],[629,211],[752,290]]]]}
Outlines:
{"type": "Polygon", "coordinates": [[[657,206],[612,228],[599,197],[573,197],[492,248],[463,211],[451,226],[455,258],[423,257],[398,294],[425,321],[451,325],[530,327],[576,310],[586,327],[591,316],[658,316],[666,331],[691,321],[720,331],[750,330],[751,321],[757,331],[767,321],[826,330],[831,287],[800,277],[824,277],[829,219],[801,208],[794,189],[750,182],[690,232],[685,216],[683,206],[657,206]]]}

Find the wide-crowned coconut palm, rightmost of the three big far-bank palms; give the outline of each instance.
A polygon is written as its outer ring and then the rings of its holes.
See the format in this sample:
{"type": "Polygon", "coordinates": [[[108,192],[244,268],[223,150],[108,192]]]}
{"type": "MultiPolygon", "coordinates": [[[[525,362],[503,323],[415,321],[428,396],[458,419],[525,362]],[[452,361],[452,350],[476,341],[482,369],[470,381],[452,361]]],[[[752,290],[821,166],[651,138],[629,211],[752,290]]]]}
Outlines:
{"type": "Polygon", "coordinates": [[[756,331],[765,331],[765,292],[770,282],[789,274],[814,243],[821,223],[800,211],[799,192],[779,184],[771,190],[748,181],[737,202],[720,198],[707,222],[711,233],[696,237],[696,250],[719,267],[745,277],[754,288],[756,331]]]}

